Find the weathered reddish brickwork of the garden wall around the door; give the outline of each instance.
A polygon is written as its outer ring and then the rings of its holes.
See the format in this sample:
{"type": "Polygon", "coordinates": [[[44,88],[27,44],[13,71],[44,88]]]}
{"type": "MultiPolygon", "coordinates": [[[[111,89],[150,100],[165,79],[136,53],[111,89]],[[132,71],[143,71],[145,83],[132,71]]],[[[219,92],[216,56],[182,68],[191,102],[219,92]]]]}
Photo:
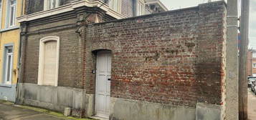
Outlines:
{"type": "Polygon", "coordinates": [[[92,51],[110,49],[112,97],[175,106],[222,104],[225,13],[218,1],[89,26],[87,92],[95,91],[92,51]]]}

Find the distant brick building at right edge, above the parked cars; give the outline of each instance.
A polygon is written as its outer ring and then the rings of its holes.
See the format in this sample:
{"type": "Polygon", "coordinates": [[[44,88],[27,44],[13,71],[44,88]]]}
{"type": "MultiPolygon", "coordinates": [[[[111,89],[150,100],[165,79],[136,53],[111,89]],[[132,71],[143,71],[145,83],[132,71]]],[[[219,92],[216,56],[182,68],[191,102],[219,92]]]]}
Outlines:
{"type": "Polygon", "coordinates": [[[247,52],[247,76],[256,76],[256,50],[247,52]]]}

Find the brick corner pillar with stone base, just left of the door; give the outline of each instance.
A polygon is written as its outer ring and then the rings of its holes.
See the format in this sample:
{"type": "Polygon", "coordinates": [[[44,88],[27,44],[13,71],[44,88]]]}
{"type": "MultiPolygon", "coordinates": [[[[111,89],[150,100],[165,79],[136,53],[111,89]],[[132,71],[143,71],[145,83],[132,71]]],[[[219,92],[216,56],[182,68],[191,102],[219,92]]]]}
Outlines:
{"type": "Polygon", "coordinates": [[[87,8],[82,7],[77,9],[77,76],[76,79],[80,79],[80,83],[76,83],[77,86],[80,86],[82,89],[85,89],[83,93],[82,103],[84,103],[85,111],[82,112],[82,116],[92,116],[94,113],[94,95],[90,94],[90,88],[94,88],[95,85],[92,83],[92,78],[94,74],[91,74],[92,63],[91,53],[87,53],[87,41],[86,41],[86,32],[87,26],[90,26],[95,23],[102,22],[102,18],[105,15],[105,11],[95,7],[87,8]],[[81,86],[82,85],[82,86],[81,86]],[[89,93],[89,94],[88,94],[89,93]]]}

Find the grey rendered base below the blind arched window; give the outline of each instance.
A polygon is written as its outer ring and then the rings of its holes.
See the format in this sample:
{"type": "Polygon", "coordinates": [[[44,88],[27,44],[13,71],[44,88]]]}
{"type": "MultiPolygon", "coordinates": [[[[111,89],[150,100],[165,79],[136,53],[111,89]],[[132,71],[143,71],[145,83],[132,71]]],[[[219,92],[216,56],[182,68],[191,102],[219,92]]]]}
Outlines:
{"type": "Polygon", "coordinates": [[[19,83],[18,86],[19,102],[23,104],[61,112],[68,107],[72,108],[74,116],[82,116],[80,110],[85,109],[85,89],[29,83],[19,83]]]}

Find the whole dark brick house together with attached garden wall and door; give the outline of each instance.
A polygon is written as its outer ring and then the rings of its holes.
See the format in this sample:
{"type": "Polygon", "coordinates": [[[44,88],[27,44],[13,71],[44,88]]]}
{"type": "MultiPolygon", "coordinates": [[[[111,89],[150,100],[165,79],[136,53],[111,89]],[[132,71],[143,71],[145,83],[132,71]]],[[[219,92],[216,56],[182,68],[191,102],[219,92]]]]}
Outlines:
{"type": "Polygon", "coordinates": [[[19,104],[109,119],[224,119],[224,1],[127,19],[138,8],[129,0],[56,2],[27,0],[18,18],[19,104]]]}

